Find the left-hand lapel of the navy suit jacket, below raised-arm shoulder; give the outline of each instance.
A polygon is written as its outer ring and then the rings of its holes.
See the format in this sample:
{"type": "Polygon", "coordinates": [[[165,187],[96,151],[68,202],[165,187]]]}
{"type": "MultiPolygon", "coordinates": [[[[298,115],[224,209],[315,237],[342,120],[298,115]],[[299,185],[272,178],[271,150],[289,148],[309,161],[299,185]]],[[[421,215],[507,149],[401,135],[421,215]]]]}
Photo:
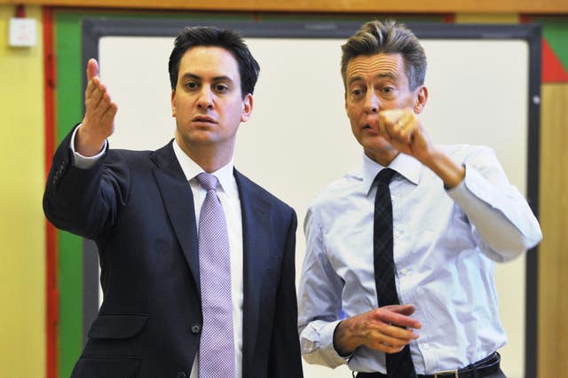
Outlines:
{"type": "Polygon", "coordinates": [[[152,170],[177,240],[193,273],[198,295],[201,296],[199,246],[193,193],[171,144],[172,142],[150,155],[157,166],[152,170]]]}

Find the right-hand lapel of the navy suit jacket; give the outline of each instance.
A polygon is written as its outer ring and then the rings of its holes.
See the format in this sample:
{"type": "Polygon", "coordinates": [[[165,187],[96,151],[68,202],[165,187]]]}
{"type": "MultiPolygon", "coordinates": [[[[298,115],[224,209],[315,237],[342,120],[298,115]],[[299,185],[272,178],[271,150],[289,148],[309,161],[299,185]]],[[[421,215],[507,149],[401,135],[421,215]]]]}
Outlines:
{"type": "Polygon", "coordinates": [[[271,256],[271,205],[258,193],[256,185],[236,169],[234,177],[241,198],[243,230],[242,364],[244,369],[244,366],[254,366],[256,337],[262,311],[260,298],[263,289],[263,273],[271,256]]]}

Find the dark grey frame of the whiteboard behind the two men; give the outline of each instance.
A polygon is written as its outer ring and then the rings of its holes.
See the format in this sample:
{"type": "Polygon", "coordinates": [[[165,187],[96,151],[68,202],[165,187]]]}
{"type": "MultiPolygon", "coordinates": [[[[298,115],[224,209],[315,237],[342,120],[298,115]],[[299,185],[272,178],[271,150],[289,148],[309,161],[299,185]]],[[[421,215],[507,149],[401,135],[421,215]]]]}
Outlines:
{"type": "MultiPolygon", "coordinates": [[[[83,19],[83,72],[89,58],[99,58],[99,39],[104,36],[171,36],[185,27],[214,24],[234,28],[245,37],[263,38],[343,38],[357,31],[359,21],[221,21],[170,19],[83,19]]],[[[407,22],[419,39],[525,40],[529,46],[528,136],[526,197],[539,216],[540,167],[540,25],[461,25],[407,22]]],[[[164,57],[166,59],[167,57],[164,57]]],[[[165,61],[165,60],[164,60],[165,61]]],[[[86,79],[83,76],[83,91],[86,79]]],[[[537,247],[538,248],[538,247],[537,247]]],[[[536,376],[538,356],[538,255],[529,250],[525,266],[525,375],[536,376]]],[[[96,246],[83,241],[83,341],[99,309],[99,260],[96,246]]]]}

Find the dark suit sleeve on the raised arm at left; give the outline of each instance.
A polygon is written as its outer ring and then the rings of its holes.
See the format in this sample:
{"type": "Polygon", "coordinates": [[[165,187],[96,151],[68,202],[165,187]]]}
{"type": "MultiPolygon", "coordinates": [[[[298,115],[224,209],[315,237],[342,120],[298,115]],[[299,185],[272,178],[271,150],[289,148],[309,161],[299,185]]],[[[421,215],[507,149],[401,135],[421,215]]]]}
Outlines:
{"type": "Polygon", "coordinates": [[[125,204],[130,174],[118,153],[106,154],[90,169],[75,167],[69,143],[59,145],[43,193],[45,216],[59,229],[87,239],[109,230],[125,204]]]}

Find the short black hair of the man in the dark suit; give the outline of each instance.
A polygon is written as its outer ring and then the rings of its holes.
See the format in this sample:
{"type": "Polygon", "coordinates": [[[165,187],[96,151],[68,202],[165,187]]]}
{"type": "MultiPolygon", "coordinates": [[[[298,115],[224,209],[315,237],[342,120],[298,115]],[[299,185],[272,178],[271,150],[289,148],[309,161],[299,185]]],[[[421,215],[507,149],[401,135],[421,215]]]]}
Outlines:
{"type": "Polygon", "coordinates": [[[197,46],[217,46],[229,51],[239,65],[242,98],[255,91],[260,67],[248,50],[241,33],[233,29],[213,27],[184,28],[177,35],[168,63],[172,91],[176,90],[179,61],[184,56],[185,51],[197,46]]]}

